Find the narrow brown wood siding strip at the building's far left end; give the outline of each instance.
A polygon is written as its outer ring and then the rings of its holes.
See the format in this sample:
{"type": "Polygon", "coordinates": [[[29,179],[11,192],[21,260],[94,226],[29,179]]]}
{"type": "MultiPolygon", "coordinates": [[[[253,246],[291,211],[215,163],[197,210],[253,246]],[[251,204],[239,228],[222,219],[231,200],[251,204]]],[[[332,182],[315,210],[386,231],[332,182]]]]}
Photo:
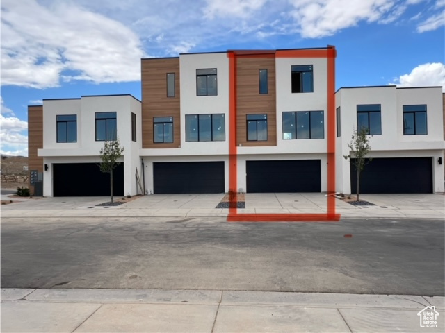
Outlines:
{"type": "MultiPolygon", "coordinates": [[[[28,107],[28,170],[43,172],[43,157],[38,157],[37,150],[43,148],[43,105],[28,107]]],[[[28,186],[31,195],[34,187],[31,186],[31,173],[28,175],[28,186]]]]}

